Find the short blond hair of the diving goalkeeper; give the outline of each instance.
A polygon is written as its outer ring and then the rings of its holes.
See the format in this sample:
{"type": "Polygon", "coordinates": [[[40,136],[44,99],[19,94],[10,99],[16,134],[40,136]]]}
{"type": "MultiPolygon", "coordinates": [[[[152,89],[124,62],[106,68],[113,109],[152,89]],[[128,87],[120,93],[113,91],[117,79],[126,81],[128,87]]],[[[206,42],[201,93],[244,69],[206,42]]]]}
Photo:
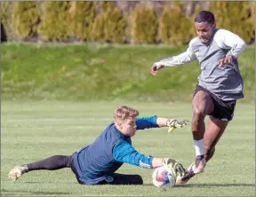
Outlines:
{"type": "Polygon", "coordinates": [[[129,106],[118,106],[115,109],[113,114],[114,122],[124,121],[127,118],[134,118],[139,115],[139,111],[136,109],[132,109],[129,106]]]}

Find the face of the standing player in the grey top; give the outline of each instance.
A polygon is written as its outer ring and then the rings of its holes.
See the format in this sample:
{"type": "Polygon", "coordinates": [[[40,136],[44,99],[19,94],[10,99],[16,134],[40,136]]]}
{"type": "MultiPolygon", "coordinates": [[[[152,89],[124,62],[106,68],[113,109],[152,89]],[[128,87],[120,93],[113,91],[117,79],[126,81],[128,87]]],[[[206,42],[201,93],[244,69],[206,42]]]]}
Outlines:
{"type": "Polygon", "coordinates": [[[208,22],[195,22],[196,34],[202,43],[208,43],[212,39],[216,25],[208,22]]]}

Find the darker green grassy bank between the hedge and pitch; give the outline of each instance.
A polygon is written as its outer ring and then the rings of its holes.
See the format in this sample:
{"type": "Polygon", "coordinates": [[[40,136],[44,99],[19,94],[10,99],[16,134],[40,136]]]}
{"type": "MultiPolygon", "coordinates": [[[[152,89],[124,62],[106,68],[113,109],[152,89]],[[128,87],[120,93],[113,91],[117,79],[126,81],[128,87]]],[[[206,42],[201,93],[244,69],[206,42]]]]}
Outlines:
{"type": "MultiPolygon", "coordinates": [[[[170,67],[155,77],[152,64],[187,46],[4,43],[2,98],[12,100],[190,101],[200,74],[197,61],[170,67]]],[[[239,57],[243,102],[254,98],[254,48],[239,57]]]]}

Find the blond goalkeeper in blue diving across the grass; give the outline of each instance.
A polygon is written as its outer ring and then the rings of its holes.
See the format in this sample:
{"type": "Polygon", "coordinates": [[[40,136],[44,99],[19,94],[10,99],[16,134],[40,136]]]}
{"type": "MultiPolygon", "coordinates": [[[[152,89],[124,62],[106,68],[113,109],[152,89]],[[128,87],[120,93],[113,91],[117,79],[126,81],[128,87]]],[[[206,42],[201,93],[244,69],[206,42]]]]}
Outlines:
{"type": "Polygon", "coordinates": [[[166,166],[176,177],[183,177],[187,171],[173,158],[156,158],[137,152],[131,138],[136,130],[169,127],[168,132],[182,128],[188,121],[164,117],[138,117],[139,111],[128,106],[118,106],[114,112],[114,122],[102,131],[89,145],[80,148],[72,155],[54,155],[38,162],[23,164],[13,168],[9,177],[16,181],[23,174],[33,170],[56,170],[70,168],[82,185],[142,185],[140,175],[115,173],[123,163],[154,169],[166,166]]]}

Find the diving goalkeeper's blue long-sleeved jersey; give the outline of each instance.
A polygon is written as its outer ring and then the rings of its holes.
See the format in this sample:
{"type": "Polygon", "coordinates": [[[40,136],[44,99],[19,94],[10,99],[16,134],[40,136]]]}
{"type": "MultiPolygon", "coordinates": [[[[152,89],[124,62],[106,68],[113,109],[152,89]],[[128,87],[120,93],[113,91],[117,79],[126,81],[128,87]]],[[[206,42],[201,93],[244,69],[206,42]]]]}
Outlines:
{"type": "MultiPolygon", "coordinates": [[[[156,128],[156,115],[136,118],[137,130],[156,128]]],[[[114,174],[124,162],[141,168],[152,168],[152,156],[138,153],[130,137],[124,136],[112,122],[90,146],[84,146],[74,155],[79,179],[86,185],[97,185],[114,174]]]]}

